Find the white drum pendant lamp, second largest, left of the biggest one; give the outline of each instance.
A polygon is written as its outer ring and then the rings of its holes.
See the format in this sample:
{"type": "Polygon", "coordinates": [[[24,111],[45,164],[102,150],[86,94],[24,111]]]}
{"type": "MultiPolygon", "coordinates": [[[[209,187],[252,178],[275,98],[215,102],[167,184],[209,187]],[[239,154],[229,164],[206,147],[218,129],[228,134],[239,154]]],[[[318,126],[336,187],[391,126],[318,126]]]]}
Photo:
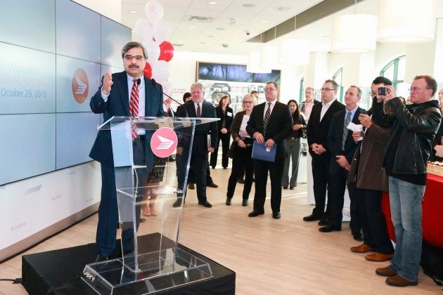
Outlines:
{"type": "Polygon", "coordinates": [[[357,13],[357,0],[355,0],[353,14],[338,15],[333,18],[330,51],[338,53],[375,51],[376,26],[375,15],[357,13]]]}

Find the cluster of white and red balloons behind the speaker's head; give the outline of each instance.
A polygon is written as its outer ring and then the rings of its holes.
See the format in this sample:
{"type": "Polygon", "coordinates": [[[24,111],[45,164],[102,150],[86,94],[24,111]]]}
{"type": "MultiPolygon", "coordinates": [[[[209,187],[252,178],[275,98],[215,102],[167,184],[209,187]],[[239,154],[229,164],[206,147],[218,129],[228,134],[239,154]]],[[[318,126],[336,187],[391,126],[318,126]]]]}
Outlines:
{"type": "Polygon", "coordinates": [[[171,70],[169,60],[174,57],[174,46],[166,41],[171,35],[171,28],[166,20],[162,20],[165,9],[157,0],[146,2],[146,18],[141,18],[135,23],[135,33],[143,41],[142,44],[148,53],[145,77],[153,78],[162,84],[163,91],[172,95],[172,86],[167,81],[171,70]]]}

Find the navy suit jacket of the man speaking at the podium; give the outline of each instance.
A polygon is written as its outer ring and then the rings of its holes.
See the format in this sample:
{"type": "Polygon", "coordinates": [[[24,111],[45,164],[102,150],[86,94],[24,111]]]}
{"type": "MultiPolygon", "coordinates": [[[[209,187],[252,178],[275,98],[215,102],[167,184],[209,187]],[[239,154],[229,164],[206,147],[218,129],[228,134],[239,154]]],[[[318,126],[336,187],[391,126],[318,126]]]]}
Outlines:
{"type": "MultiPolygon", "coordinates": [[[[157,89],[153,86],[151,79],[145,79],[145,116],[146,117],[162,117],[163,112],[163,95],[162,86],[156,84],[157,89]]],[[[101,87],[91,98],[92,112],[95,114],[103,114],[103,121],[114,116],[129,116],[129,90],[126,72],[113,74],[113,86],[111,87],[108,100],[104,101],[101,97],[101,87]]],[[[146,147],[150,150],[150,144],[146,140],[146,147]]],[[[109,130],[98,131],[96,141],[92,146],[89,157],[103,164],[113,165],[113,146],[109,130]]]]}

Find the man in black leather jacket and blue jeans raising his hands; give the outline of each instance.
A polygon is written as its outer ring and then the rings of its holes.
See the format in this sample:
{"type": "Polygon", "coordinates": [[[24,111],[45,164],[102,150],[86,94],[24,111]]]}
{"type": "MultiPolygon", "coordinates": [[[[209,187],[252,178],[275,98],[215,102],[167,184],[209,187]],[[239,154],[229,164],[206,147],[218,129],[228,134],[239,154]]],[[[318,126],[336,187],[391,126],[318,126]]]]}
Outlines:
{"type": "MultiPolygon", "coordinates": [[[[389,103],[394,125],[387,142],[384,166],[389,176],[391,218],[395,230],[395,251],[391,265],[377,268],[375,273],[387,277],[386,284],[396,287],[418,283],[423,228],[421,225],[426,166],[432,140],[439,128],[442,114],[438,101],[432,100],[437,81],[423,75],[411,84],[411,105],[404,105],[386,86],[385,102],[389,103]]],[[[387,116],[381,107],[373,113],[387,116]]]]}

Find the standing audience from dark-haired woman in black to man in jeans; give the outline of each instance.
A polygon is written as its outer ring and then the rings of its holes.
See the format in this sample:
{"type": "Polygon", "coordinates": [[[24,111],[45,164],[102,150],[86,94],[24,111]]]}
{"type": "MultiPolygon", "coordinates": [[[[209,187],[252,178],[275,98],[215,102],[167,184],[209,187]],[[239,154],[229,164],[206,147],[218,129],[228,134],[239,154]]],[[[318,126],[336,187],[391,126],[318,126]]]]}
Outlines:
{"type": "MultiPolygon", "coordinates": [[[[266,101],[257,105],[255,93],[247,94],[237,114],[229,107],[229,97],[224,96],[212,108],[220,118],[214,153],[221,140],[224,169],[228,158],[232,159],[226,205],[231,205],[236,183],[245,176],[242,205],[248,206],[255,176],[253,209],[248,216],[264,214],[269,175],[272,217],[281,218],[281,189],[293,190],[297,186],[300,138],[305,137],[312,156],[315,206],[303,220],[318,221],[320,232],[342,230],[347,188],[351,201],[349,228],[354,240],[361,242],[350,250],[370,252],[365,256],[368,261],[390,261],[390,265],[375,270],[377,275],[387,277],[387,284],[416,285],[426,163],[430,155],[437,160],[443,156],[443,128],[439,128],[443,89],[439,91],[440,102],[432,100],[436,92],[435,79],[417,76],[411,84],[411,104],[406,105],[389,79],[377,77],[371,84],[372,105],[364,110],[359,107],[359,87],[349,86],[342,104],[336,98],[338,84],[326,80],[321,88],[321,102],[314,100],[314,89],[308,87],[306,100],[299,107],[295,100],[289,100],[287,105],[279,103],[278,86],[269,82],[264,88],[266,101]],[[255,145],[275,149],[274,161],[254,159],[255,145]],[[382,210],[383,192],[390,193],[395,249],[382,210]]],[[[207,165],[213,169],[217,164],[214,153],[207,165]]]]}

